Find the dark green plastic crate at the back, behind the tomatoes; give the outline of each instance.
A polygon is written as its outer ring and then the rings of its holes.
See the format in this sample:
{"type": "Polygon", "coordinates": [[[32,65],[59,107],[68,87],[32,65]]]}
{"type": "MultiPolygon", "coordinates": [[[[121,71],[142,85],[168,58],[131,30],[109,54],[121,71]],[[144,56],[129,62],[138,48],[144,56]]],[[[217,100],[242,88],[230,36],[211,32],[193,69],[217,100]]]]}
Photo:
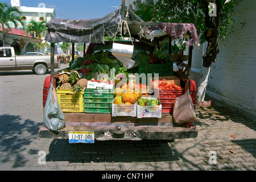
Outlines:
{"type": "Polygon", "coordinates": [[[168,75],[174,75],[174,63],[172,61],[168,61],[167,63],[161,63],[161,64],[139,64],[139,74],[145,73],[152,73],[152,76],[154,76],[154,73],[158,73],[158,76],[168,76],[168,75]]]}

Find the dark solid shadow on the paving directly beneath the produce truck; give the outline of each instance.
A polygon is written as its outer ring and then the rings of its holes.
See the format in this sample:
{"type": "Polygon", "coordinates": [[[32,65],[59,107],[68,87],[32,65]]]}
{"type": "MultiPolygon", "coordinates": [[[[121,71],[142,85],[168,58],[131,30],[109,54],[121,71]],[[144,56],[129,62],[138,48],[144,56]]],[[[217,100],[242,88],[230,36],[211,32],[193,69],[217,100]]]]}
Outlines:
{"type": "Polygon", "coordinates": [[[53,139],[49,146],[47,161],[69,162],[155,162],[179,160],[168,142],[159,140],[109,140],[93,144],[69,144],[68,139],[53,139]],[[65,148],[65,150],[60,150],[65,148]]]}

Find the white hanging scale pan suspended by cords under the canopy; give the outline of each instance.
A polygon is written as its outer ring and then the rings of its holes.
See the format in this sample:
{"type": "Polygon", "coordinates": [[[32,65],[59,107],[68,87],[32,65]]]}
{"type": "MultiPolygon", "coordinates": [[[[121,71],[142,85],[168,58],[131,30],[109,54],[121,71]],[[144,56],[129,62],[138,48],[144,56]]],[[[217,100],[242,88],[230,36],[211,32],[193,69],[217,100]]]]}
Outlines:
{"type": "MultiPolygon", "coordinates": [[[[131,39],[130,30],[129,30],[128,24],[125,20],[122,20],[118,24],[117,32],[118,32],[118,28],[121,24],[121,37],[122,37],[123,23],[126,25],[127,30],[129,32],[129,35],[130,35],[130,39],[131,39]]],[[[115,33],[115,36],[117,36],[117,32],[115,33]]],[[[114,37],[114,40],[115,40],[115,37],[114,37]]],[[[131,43],[133,44],[132,39],[131,39],[131,43]]],[[[119,61],[121,61],[123,63],[123,67],[125,67],[126,69],[130,69],[135,64],[135,61],[131,60],[131,56],[133,56],[133,49],[134,49],[134,44],[133,45],[127,45],[127,44],[115,43],[113,41],[112,55],[114,55],[119,61]]]]}

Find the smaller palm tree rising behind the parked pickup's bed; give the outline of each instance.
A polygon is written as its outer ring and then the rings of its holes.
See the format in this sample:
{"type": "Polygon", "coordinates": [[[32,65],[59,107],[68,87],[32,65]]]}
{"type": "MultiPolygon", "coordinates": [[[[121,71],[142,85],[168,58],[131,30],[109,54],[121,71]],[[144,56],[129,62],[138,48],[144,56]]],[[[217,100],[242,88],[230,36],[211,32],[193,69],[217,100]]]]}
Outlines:
{"type": "Polygon", "coordinates": [[[39,40],[42,38],[41,33],[47,30],[46,21],[36,22],[35,20],[31,20],[27,25],[26,33],[34,31],[38,35],[38,52],[39,52],[39,40]]]}

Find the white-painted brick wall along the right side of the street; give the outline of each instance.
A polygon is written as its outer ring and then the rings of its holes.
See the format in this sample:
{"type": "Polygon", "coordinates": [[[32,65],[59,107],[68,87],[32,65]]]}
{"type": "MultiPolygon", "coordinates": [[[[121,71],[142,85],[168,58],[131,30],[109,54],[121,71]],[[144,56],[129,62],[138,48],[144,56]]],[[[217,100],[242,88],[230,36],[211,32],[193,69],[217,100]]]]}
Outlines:
{"type": "Polygon", "coordinates": [[[255,0],[241,1],[234,11],[233,33],[226,44],[219,44],[216,63],[212,64],[207,94],[237,107],[245,116],[256,118],[255,0]],[[246,22],[241,28],[241,22],[246,22]]]}

